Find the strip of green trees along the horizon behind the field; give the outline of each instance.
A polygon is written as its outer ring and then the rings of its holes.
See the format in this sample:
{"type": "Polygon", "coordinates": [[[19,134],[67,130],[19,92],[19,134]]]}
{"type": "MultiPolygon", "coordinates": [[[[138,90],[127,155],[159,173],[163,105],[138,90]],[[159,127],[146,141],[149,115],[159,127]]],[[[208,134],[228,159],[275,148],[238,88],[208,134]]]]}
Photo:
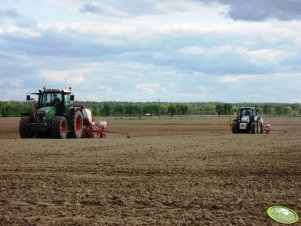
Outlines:
{"type": "MultiPolygon", "coordinates": [[[[301,103],[169,103],[169,102],[76,102],[92,110],[94,116],[185,116],[235,115],[239,106],[256,106],[264,116],[301,116],[301,103]]],[[[0,101],[0,116],[18,117],[32,112],[33,105],[25,101],[0,101]]]]}

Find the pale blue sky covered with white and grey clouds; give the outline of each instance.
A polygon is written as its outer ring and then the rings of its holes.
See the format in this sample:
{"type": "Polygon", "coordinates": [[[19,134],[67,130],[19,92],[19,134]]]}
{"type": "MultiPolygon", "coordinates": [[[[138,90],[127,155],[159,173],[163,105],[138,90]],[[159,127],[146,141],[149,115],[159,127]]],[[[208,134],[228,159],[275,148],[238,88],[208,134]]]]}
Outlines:
{"type": "Polygon", "coordinates": [[[0,100],[301,102],[300,0],[1,0],[0,100]]]}

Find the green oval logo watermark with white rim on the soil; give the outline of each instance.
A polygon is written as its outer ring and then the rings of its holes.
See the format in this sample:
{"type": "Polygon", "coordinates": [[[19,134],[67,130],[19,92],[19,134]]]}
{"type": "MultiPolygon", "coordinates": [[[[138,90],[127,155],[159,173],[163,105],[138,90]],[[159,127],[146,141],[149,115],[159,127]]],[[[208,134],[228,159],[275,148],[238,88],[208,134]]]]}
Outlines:
{"type": "Polygon", "coordinates": [[[268,216],[282,224],[293,224],[298,221],[298,215],[284,206],[272,206],[267,210],[268,216]]]}

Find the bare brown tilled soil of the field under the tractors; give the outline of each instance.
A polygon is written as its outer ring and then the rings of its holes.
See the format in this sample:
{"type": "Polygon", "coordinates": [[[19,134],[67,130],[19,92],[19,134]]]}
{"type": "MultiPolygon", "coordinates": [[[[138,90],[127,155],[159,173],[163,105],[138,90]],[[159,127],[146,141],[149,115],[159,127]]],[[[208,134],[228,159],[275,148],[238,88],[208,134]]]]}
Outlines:
{"type": "MultiPolygon", "coordinates": [[[[0,119],[0,225],[278,225],[301,215],[301,118],[237,134],[228,118],[109,119],[131,139],[19,139],[0,119]]],[[[300,220],[299,220],[300,223],[300,220]]]]}

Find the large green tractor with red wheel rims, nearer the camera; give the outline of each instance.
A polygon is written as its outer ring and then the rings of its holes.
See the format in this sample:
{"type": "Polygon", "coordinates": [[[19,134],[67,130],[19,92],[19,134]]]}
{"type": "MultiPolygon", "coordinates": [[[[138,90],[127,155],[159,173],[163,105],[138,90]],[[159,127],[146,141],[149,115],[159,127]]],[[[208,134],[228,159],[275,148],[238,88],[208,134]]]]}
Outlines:
{"type": "Polygon", "coordinates": [[[69,89],[46,89],[26,95],[33,100],[33,113],[22,114],[19,124],[21,138],[80,138],[83,133],[82,108],[73,105],[69,89]],[[30,94],[38,96],[38,100],[30,94]]]}

